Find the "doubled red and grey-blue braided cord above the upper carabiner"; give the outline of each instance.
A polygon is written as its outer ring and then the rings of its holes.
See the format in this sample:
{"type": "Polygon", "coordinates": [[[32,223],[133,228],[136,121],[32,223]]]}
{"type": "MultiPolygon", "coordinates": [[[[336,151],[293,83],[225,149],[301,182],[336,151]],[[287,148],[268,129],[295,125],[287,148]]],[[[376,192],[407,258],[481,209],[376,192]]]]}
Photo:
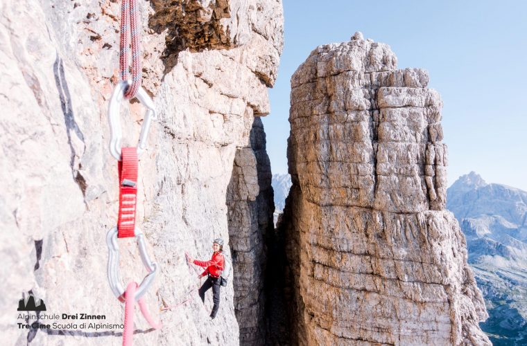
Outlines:
{"type": "Polygon", "coordinates": [[[128,80],[128,49],[129,37],[132,37],[132,85],[126,90],[124,97],[133,98],[141,87],[141,21],[137,0],[123,0],[121,5],[121,53],[119,55],[119,72],[121,80],[128,80]]]}

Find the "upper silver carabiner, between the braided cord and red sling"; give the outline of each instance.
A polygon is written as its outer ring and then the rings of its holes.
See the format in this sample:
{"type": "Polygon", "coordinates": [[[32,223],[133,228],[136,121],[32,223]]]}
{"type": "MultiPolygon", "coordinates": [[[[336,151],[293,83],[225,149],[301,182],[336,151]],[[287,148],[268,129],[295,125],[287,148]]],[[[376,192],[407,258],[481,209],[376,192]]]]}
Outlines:
{"type": "MultiPolygon", "coordinates": [[[[110,153],[116,160],[121,161],[121,139],[123,134],[121,131],[121,120],[120,120],[120,111],[121,111],[121,101],[124,97],[124,92],[128,89],[132,82],[130,80],[122,80],[119,82],[112,93],[112,98],[110,98],[110,104],[108,104],[108,120],[110,121],[110,153]]],[[[146,149],[146,137],[148,136],[148,131],[150,131],[150,122],[157,119],[155,113],[155,105],[148,96],[148,93],[141,87],[135,98],[141,102],[141,104],[146,107],[146,113],[143,120],[143,126],[141,127],[141,134],[139,134],[139,142],[137,143],[137,154],[146,149]]]]}

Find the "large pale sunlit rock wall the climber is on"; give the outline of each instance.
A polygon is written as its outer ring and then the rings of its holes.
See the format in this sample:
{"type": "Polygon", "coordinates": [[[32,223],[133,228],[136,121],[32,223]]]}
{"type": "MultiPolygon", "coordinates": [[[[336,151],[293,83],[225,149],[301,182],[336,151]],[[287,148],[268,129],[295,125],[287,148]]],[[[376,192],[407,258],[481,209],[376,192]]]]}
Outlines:
{"type": "MultiPolygon", "coordinates": [[[[227,185],[236,148],[250,146],[254,116],[269,112],[266,86],[275,80],[282,50],[282,3],[189,1],[183,9],[178,1],[139,3],[144,87],[159,119],[140,157],[137,226],[159,264],[145,297],[164,328],[150,330],[136,311],[134,341],[239,345],[232,282],[222,288],[218,316],[209,320],[211,292],[204,306],[193,291],[198,271],[187,266],[184,251],[208,260],[215,237],[230,251],[227,185]],[[178,46],[177,57],[166,42],[176,35],[169,19],[180,17],[161,13],[173,11],[170,4],[179,15],[189,13],[189,21],[178,21],[182,34],[175,41],[187,43],[178,46]],[[221,44],[200,43],[192,18],[214,22],[203,28],[209,42],[221,44]]],[[[98,322],[106,324],[123,320],[123,304],[107,284],[105,243],[118,208],[107,102],[117,81],[120,2],[3,1],[1,10],[3,335],[16,345],[120,345],[119,328],[16,327],[17,302],[29,291],[44,300],[47,313],[103,314],[98,322]]],[[[122,108],[123,145],[135,145],[144,109],[137,102],[122,108]]],[[[250,220],[241,221],[245,227],[241,232],[254,230],[250,220]]],[[[139,282],[146,270],[135,242],[120,240],[119,246],[123,284],[139,282]]]]}

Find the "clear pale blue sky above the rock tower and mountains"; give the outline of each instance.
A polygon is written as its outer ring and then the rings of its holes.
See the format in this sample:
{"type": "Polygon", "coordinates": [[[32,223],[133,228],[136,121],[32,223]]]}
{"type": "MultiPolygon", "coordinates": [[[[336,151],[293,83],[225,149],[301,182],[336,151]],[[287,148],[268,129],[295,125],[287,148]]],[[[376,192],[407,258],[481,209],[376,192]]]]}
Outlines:
{"type": "Polygon", "coordinates": [[[290,78],[320,44],[361,31],[429,71],[444,102],[449,185],[474,170],[527,190],[527,1],[284,1],[284,52],[264,118],[273,173],[287,172],[290,78]]]}

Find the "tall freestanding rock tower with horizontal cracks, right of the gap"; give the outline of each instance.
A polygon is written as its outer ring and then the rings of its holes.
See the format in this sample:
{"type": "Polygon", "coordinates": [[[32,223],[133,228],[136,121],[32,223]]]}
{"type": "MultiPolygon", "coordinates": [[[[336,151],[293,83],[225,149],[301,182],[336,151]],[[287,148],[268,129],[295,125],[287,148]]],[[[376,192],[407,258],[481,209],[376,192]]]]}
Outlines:
{"type": "Polygon", "coordinates": [[[319,46],[291,78],[286,234],[293,343],[490,345],[444,210],[439,94],[386,44],[319,46]]]}

